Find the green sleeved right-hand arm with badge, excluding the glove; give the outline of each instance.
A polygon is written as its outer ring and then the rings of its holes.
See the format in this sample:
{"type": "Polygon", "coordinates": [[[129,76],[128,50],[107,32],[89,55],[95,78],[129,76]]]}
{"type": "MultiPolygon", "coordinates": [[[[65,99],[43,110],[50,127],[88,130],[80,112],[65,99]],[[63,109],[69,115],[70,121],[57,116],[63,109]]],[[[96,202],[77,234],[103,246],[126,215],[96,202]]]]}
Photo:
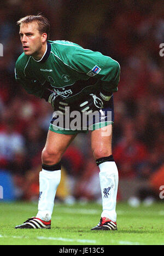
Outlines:
{"type": "Polygon", "coordinates": [[[77,48],[72,58],[72,66],[79,72],[99,80],[99,89],[104,95],[118,91],[120,65],[117,61],[97,51],[77,48]]]}

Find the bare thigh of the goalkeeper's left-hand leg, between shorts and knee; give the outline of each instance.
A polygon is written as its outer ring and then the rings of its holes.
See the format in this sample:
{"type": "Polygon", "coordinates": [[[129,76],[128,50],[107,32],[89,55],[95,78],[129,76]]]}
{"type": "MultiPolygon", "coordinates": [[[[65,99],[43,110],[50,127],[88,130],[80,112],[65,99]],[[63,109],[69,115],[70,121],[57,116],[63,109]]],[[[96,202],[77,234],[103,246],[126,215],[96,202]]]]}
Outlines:
{"type": "Polygon", "coordinates": [[[69,144],[71,144],[75,136],[76,135],[65,135],[49,130],[43,152],[54,155],[62,155],[65,153],[66,149],[68,148],[69,144]]]}

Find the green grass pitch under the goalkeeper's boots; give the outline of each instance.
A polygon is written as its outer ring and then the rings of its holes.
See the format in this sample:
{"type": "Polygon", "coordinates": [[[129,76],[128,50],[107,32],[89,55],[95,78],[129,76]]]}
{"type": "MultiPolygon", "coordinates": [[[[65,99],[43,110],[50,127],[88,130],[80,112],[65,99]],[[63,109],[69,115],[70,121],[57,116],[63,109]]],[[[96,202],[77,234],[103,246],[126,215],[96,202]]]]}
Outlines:
{"type": "Polygon", "coordinates": [[[0,245],[164,245],[164,204],[132,208],[118,203],[118,231],[90,231],[99,222],[101,206],[57,203],[51,230],[17,230],[35,216],[35,203],[0,202],[0,245]]]}

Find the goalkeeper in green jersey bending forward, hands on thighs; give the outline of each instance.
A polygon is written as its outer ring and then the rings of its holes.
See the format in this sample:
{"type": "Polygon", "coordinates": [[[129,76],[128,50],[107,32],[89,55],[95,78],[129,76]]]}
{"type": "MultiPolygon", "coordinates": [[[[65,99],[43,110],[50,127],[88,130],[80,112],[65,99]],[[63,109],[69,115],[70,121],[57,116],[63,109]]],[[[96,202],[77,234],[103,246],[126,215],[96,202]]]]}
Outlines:
{"type": "Polygon", "coordinates": [[[16,61],[15,78],[29,94],[49,102],[54,114],[42,152],[38,213],[15,228],[51,228],[62,155],[79,132],[91,130],[102,193],[101,220],[91,230],[116,230],[118,169],[112,155],[112,125],[119,63],[75,43],[50,41],[50,24],[42,15],[26,16],[17,24],[24,53],[16,61]],[[80,118],[85,115],[86,121],[84,124],[80,119],[77,127],[72,128],[67,120],[73,120],[74,111],[80,118]]]}

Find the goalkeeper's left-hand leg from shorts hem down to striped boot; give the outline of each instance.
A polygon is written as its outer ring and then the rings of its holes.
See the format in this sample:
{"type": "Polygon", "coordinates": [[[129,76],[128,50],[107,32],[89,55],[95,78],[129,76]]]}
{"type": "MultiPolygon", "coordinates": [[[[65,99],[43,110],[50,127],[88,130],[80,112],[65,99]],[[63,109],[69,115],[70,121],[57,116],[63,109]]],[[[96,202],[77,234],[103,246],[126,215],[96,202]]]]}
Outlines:
{"type": "Polygon", "coordinates": [[[50,228],[56,190],[61,179],[61,158],[76,135],[48,132],[42,152],[42,171],[39,174],[37,216],[15,228],[50,228]]]}

